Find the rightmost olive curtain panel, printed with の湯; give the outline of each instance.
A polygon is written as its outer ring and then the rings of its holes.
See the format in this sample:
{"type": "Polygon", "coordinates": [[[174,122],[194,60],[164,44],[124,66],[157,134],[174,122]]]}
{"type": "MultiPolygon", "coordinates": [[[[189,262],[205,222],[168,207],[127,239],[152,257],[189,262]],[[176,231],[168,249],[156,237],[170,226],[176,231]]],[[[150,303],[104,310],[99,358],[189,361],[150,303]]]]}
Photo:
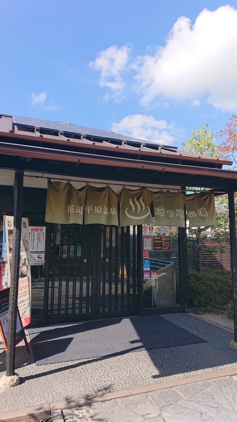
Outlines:
{"type": "Polygon", "coordinates": [[[185,196],[189,227],[216,225],[214,192],[201,192],[185,196]]]}

